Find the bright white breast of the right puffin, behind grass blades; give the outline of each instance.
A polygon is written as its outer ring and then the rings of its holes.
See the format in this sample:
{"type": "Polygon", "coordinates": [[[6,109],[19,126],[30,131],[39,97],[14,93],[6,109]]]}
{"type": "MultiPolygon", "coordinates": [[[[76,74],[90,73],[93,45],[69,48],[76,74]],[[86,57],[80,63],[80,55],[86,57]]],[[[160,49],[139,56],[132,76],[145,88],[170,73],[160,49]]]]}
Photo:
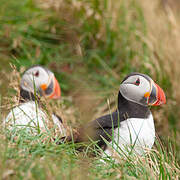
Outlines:
{"type": "Polygon", "coordinates": [[[115,150],[120,154],[133,152],[142,155],[147,149],[152,148],[154,140],[152,114],[147,119],[130,118],[121,122],[120,127],[114,130],[114,141],[109,144],[105,154],[111,156],[115,150]]]}

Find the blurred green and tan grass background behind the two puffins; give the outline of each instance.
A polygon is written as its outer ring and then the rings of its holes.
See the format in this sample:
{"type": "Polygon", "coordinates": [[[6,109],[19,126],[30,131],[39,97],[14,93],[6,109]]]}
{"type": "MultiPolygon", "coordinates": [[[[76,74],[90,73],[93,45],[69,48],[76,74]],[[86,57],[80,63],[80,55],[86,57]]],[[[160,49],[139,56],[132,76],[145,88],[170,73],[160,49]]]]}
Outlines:
{"type": "Polygon", "coordinates": [[[2,99],[13,93],[9,63],[18,70],[41,64],[55,73],[62,96],[72,97],[78,118],[91,120],[105,113],[107,98],[116,101],[126,74],[146,73],[167,96],[152,109],[157,135],[171,139],[180,159],[179,8],[178,0],[1,0],[2,99]]]}

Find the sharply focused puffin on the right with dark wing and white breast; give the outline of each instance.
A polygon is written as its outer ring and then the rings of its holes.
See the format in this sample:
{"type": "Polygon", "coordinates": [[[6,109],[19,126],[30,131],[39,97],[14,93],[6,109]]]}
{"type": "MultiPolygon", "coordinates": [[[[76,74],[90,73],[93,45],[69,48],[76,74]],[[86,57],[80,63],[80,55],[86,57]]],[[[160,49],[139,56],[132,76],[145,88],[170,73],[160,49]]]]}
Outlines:
{"type": "Polygon", "coordinates": [[[155,141],[154,120],[148,106],[165,103],[165,93],[148,75],[131,73],[120,84],[115,112],[90,121],[73,137],[64,137],[62,141],[96,141],[108,157],[113,156],[114,151],[142,155],[155,141]]]}

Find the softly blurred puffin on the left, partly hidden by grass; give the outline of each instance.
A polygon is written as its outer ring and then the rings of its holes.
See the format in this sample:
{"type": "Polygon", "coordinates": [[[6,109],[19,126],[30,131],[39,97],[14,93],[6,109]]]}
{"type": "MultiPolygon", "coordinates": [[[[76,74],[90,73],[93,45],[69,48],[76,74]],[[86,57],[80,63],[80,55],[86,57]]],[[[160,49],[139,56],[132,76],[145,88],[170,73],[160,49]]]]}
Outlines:
{"type": "MultiPolygon", "coordinates": [[[[11,131],[23,128],[33,134],[39,130],[47,129],[49,117],[41,107],[41,96],[59,99],[61,89],[53,72],[43,66],[35,65],[27,69],[22,75],[20,104],[11,109],[7,115],[5,119],[6,128],[11,131]]],[[[60,133],[65,135],[62,119],[55,114],[52,114],[51,118],[60,133]]]]}

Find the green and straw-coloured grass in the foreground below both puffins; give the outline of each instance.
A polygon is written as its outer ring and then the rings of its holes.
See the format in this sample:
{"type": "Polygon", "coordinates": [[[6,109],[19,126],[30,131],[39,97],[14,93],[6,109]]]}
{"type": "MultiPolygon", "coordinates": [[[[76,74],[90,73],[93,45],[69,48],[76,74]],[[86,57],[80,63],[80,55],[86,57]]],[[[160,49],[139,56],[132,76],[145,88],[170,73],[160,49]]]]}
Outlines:
{"type": "MultiPolygon", "coordinates": [[[[1,138],[1,177],[10,172],[7,177],[12,179],[177,179],[180,173],[173,151],[168,152],[158,141],[157,148],[145,157],[129,156],[119,163],[104,159],[104,163],[99,156],[77,152],[72,144],[44,142],[41,135],[21,133],[14,142],[1,138]]],[[[171,145],[169,142],[170,149],[171,145]]]]}

